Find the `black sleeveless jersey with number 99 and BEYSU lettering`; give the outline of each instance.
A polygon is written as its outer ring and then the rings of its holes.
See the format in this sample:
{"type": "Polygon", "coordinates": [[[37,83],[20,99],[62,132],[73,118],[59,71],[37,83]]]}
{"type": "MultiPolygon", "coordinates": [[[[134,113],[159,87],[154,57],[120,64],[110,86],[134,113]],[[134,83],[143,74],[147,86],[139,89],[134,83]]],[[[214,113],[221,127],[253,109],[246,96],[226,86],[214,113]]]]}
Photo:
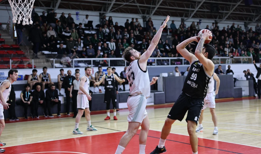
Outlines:
{"type": "Polygon", "coordinates": [[[191,63],[182,91],[191,97],[205,98],[210,78],[206,74],[203,64],[200,64],[199,60],[195,60],[191,63]]]}

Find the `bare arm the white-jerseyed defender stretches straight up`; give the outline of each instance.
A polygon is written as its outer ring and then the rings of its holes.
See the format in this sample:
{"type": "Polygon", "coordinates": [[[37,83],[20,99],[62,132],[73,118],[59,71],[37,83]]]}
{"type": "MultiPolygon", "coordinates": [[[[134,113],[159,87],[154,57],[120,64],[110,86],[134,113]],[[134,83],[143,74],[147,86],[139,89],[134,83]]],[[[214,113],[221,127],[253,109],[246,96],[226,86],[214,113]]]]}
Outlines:
{"type": "Polygon", "coordinates": [[[157,44],[159,43],[159,39],[161,38],[162,30],[163,30],[163,28],[165,28],[165,26],[167,25],[168,21],[169,21],[169,16],[167,16],[166,20],[163,22],[162,26],[159,28],[159,30],[156,33],[156,35],[151,40],[150,46],[147,49],[147,51],[144,52],[141,55],[141,57],[139,59],[139,64],[140,63],[146,63],[147,64],[148,59],[150,58],[152,52],[154,51],[154,49],[156,48],[157,44]]]}

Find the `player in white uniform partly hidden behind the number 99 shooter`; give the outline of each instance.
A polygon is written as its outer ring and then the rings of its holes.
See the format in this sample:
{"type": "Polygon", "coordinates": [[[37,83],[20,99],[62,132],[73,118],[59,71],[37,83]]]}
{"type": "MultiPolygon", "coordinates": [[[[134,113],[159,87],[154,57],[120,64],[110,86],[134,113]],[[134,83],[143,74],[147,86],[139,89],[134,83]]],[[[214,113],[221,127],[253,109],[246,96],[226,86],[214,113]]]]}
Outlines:
{"type": "Polygon", "coordinates": [[[214,73],[214,76],[212,78],[210,78],[209,80],[209,84],[207,86],[207,95],[204,98],[204,106],[201,110],[201,115],[199,118],[199,125],[198,128],[196,129],[196,132],[200,132],[203,130],[203,125],[202,125],[202,121],[203,121],[203,113],[204,113],[204,109],[209,107],[211,116],[212,116],[212,121],[214,123],[214,131],[213,131],[213,135],[217,135],[218,134],[218,129],[217,129],[217,115],[215,112],[215,108],[216,108],[216,102],[215,102],[215,97],[218,94],[218,89],[219,89],[219,85],[220,85],[220,79],[218,78],[217,74],[214,73]],[[214,79],[216,80],[216,91],[214,91],[214,79]]]}

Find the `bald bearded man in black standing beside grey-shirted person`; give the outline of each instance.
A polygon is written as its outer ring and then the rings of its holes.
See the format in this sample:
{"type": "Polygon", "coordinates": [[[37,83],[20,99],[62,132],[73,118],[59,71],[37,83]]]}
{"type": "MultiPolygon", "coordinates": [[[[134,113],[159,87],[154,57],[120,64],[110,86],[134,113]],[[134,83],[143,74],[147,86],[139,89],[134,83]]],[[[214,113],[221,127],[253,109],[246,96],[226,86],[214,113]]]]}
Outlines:
{"type": "Polygon", "coordinates": [[[64,86],[64,90],[65,90],[65,95],[66,95],[66,112],[67,112],[67,115],[70,115],[70,101],[71,101],[70,90],[71,90],[71,85],[72,85],[73,81],[75,80],[75,77],[72,76],[71,70],[68,70],[67,74],[68,75],[63,79],[63,86],[64,86]]]}

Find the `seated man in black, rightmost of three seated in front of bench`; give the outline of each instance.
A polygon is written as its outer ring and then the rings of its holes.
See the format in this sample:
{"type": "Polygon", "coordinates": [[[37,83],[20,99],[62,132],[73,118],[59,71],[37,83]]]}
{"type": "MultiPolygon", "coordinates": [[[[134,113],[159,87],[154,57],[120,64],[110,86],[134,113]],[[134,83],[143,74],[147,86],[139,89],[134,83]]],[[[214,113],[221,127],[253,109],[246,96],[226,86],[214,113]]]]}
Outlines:
{"type": "MultiPolygon", "coordinates": [[[[61,101],[59,100],[58,90],[55,89],[55,85],[52,84],[51,87],[45,91],[46,105],[48,110],[48,117],[54,117],[51,114],[51,106],[57,104],[57,116],[60,115],[61,111],[61,101]]],[[[47,117],[47,115],[44,115],[47,117]]]]}

